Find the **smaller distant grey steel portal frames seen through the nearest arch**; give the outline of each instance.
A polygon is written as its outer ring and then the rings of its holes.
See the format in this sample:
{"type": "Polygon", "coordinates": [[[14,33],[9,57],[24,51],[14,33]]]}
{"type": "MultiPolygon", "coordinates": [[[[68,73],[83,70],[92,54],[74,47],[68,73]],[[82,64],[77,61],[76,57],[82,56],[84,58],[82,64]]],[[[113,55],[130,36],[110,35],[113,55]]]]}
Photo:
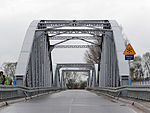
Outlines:
{"type": "Polygon", "coordinates": [[[88,81],[88,87],[96,86],[96,71],[95,71],[94,64],[70,63],[70,64],[57,64],[56,70],[55,70],[55,79],[54,79],[54,81],[55,81],[54,85],[56,87],[64,87],[65,86],[64,72],[66,72],[66,71],[89,72],[89,80],[90,81],[88,81]],[[62,68],[78,68],[78,70],[65,69],[65,70],[62,70],[62,75],[60,75],[60,71],[62,68]],[[92,71],[91,76],[90,76],[90,71],[92,71]]]}

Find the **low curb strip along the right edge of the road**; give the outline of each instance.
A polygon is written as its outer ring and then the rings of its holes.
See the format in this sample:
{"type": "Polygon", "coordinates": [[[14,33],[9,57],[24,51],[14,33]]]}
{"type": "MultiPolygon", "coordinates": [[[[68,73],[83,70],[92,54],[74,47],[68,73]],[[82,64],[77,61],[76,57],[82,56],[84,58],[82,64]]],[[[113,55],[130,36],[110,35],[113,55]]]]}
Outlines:
{"type": "MultiPolygon", "coordinates": [[[[94,90],[91,90],[91,91],[94,91],[94,90]]],[[[108,96],[110,98],[113,98],[113,99],[116,99],[116,100],[119,100],[119,101],[122,101],[122,102],[125,102],[125,103],[128,103],[128,104],[131,104],[131,105],[135,106],[136,108],[138,108],[138,109],[140,109],[140,110],[142,110],[146,113],[150,113],[150,108],[147,108],[147,107],[143,106],[142,104],[139,104],[138,102],[123,99],[123,98],[120,98],[120,97],[115,97],[115,96],[112,96],[112,95],[109,95],[109,94],[106,94],[106,93],[100,93],[98,91],[94,91],[94,92],[96,92],[97,94],[102,94],[102,95],[108,96]]]]}

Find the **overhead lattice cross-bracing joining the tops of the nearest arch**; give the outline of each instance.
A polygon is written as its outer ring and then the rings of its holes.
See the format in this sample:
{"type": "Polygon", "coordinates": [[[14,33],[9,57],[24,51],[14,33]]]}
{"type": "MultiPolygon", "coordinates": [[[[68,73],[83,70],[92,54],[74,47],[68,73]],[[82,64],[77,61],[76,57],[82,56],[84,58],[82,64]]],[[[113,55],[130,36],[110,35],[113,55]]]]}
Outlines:
{"type": "Polygon", "coordinates": [[[110,23],[107,20],[102,21],[82,21],[82,20],[52,20],[44,21],[42,20],[38,24],[38,31],[44,31],[50,40],[63,40],[58,44],[51,45],[53,48],[94,48],[99,47],[99,45],[88,41],[88,40],[101,40],[105,32],[112,32],[110,23]],[[67,27],[67,28],[64,28],[67,27]],[[69,28],[68,28],[69,27],[69,28]],[[83,28],[84,27],[84,28],[83,28]],[[78,29],[77,29],[78,28],[78,29]],[[66,34],[84,34],[91,36],[60,36],[66,34]],[[60,45],[61,43],[67,42],[69,40],[82,40],[88,42],[92,45],[60,45]]]}

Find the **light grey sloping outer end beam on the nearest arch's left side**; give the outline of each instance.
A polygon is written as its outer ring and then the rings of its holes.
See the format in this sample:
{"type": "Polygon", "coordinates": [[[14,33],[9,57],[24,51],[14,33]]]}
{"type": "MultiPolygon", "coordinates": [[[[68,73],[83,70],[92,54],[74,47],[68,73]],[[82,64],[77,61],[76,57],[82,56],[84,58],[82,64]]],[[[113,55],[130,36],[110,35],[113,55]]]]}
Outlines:
{"type": "Polygon", "coordinates": [[[31,50],[32,50],[32,44],[34,42],[35,29],[37,28],[39,22],[40,21],[33,21],[26,32],[26,36],[23,42],[23,46],[20,52],[20,56],[18,59],[17,68],[15,72],[17,85],[26,86],[25,79],[26,79],[27,68],[30,59],[30,53],[32,52],[31,50]]]}

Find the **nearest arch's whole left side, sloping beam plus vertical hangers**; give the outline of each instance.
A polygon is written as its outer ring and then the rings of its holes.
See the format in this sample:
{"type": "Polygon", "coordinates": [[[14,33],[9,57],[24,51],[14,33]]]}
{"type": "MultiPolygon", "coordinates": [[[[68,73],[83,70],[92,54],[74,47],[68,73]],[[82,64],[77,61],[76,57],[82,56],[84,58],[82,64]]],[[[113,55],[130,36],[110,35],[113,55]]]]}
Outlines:
{"type": "Polygon", "coordinates": [[[38,23],[33,21],[26,32],[15,73],[16,85],[52,86],[49,40],[43,32],[36,32],[38,23]]]}

